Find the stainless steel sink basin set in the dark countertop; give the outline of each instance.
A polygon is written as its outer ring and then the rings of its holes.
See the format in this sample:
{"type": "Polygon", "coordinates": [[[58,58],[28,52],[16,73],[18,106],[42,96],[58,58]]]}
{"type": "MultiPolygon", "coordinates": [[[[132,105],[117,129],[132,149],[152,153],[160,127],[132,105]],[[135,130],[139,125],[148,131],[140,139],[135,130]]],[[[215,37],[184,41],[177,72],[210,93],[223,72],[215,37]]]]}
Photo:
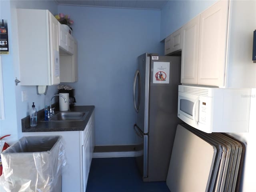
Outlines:
{"type": "Polygon", "coordinates": [[[89,112],[57,112],[50,121],[83,121],[89,112]]]}

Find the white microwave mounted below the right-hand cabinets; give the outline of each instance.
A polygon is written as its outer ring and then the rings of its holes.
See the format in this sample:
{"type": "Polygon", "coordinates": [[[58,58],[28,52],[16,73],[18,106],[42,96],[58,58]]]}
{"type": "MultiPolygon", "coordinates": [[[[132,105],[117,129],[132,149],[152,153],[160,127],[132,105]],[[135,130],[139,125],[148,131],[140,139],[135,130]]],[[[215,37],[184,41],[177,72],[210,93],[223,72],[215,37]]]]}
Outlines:
{"type": "Polygon", "coordinates": [[[206,133],[248,132],[251,89],[178,86],[178,118],[206,133]]]}

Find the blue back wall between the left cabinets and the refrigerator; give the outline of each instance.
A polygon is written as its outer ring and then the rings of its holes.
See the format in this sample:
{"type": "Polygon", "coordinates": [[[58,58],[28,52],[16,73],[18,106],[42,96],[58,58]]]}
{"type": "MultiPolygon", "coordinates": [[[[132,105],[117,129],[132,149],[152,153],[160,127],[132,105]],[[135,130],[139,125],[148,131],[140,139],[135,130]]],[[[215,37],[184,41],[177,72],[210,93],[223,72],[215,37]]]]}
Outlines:
{"type": "Polygon", "coordinates": [[[77,105],[96,106],[96,145],[135,143],[132,86],[136,58],[163,54],[160,11],[58,6],[78,40],[77,105]]]}

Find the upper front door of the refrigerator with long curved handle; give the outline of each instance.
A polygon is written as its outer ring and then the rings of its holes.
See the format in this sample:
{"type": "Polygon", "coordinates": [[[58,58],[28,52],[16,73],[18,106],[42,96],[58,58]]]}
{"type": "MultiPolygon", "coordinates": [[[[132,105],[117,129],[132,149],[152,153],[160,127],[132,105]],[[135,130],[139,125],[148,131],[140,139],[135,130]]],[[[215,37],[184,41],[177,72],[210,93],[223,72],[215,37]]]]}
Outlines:
{"type": "Polygon", "coordinates": [[[150,56],[147,53],[138,57],[138,71],[140,74],[140,107],[136,123],[144,134],[148,134],[150,56]]]}

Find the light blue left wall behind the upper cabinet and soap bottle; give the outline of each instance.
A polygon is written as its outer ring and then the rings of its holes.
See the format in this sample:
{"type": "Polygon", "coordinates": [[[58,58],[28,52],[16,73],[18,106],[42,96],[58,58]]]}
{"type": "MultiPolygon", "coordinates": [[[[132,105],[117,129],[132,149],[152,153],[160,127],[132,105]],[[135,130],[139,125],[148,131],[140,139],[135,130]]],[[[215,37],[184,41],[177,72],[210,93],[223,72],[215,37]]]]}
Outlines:
{"type": "Polygon", "coordinates": [[[46,96],[37,95],[36,86],[16,86],[14,83],[15,78],[19,79],[20,76],[16,8],[48,9],[52,14],[57,13],[57,4],[54,1],[0,1],[0,18],[8,20],[10,46],[10,54],[1,56],[5,119],[0,120],[0,136],[11,134],[6,138],[8,144],[16,142],[22,136],[21,119],[29,114],[32,102],[35,102],[36,108],[42,109],[50,102],[50,96],[57,92],[56,86],[50,86],[46,96]],[[26,91],[28,96],[28,100],[24,102],[21,98],[22,90],[26,91]]]}

